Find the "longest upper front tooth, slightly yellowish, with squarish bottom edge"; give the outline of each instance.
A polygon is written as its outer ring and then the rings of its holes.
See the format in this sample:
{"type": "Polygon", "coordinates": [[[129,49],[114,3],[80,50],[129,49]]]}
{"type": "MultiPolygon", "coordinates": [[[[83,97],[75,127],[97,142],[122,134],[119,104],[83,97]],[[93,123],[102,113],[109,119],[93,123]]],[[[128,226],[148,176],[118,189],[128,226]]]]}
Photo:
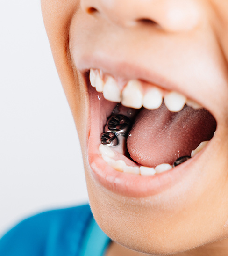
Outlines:
{"type": "Polygon", "coordinates": [[[142,98],[141,83],[137,80],[130,80],[122,91],[122,105],[125,107],[140,109],[142,107],[142,98]]]}

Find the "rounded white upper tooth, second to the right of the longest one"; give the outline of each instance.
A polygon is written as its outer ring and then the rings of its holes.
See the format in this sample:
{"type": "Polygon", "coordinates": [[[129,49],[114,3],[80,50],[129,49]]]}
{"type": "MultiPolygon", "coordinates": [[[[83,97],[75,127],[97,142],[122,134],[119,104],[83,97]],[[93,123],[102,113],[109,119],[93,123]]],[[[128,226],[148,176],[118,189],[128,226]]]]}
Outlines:
{"type": "Polygon", "coordinates": [[[177,92],[170,92],[164,96],[164,103],[171,112],[178,112],[185,106],[186,97],[177,92]]]}

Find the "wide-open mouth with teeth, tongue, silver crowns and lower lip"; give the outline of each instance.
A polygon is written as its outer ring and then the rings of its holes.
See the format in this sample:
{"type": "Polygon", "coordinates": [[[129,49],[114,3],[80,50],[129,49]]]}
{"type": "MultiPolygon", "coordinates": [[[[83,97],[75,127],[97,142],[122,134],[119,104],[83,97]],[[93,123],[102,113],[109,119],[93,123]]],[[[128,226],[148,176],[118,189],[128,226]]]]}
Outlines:
{"type": "Polygon", "coordinates": [[[85,77],[93,119],[89,164],[95,178],[114,192],[149,195],[149,181],[161,189],[214,136],[214,117],[185,95],[98,69],[85,77]]]}

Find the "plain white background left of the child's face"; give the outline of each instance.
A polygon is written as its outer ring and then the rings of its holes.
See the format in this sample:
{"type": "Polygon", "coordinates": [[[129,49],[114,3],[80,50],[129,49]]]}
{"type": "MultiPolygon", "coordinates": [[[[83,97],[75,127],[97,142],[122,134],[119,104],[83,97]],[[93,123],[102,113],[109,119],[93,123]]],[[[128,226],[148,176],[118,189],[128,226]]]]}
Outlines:
{"type": "Polygon", "coordinates": [[[0,235],[37,212],[87,201],[78,136],[40,0],[1,0],[0,235]]]}

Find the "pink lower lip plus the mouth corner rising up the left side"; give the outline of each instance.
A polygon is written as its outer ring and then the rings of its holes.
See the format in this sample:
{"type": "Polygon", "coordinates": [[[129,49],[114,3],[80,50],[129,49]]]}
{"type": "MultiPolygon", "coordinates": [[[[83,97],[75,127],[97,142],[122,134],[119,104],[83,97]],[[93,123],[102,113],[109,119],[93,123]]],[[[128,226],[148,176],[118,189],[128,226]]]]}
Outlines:
{"type": "Polygon", "coordinates": [[[192,163],[198,156],[184,162],[183,164],[154,176],[141,176],[129,173],[122,173],[111,168],[101,158],[100,145],[100,100],[98,93],[89,87],[90,103],[90,131],[88,132],[88,162],[91,173],[100,185],[114,193],[127,197],[148,197],[161,193],[180,182],[192,169],[192,163]]]}

